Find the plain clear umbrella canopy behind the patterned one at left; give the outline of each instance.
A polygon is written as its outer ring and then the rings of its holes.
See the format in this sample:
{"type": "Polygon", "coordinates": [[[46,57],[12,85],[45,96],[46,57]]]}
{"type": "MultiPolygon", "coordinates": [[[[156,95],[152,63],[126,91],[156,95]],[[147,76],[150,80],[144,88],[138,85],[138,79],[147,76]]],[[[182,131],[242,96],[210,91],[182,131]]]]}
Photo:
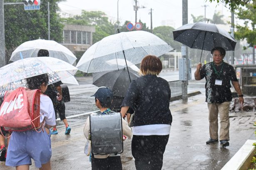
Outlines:
{"type": "Polygon", "coordinates": [[[26,41],[22,43],[12,52],[10,61],[20,60],[20,52],[22,52],[23,58],[37,57],[37,53],[40,49],[48,50],[49,56],[66,61],[73,64],[77,58],[67,47],[62,46],[56,41],[37,39],[32,41],[26,41]]]}

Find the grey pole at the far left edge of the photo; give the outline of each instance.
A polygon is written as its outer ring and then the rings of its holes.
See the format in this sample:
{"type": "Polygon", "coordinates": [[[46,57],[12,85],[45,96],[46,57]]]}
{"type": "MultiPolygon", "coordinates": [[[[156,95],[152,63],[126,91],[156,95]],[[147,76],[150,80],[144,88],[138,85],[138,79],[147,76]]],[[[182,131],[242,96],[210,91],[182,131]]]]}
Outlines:
{"type": "Polygon", "coordinates": [[[0,67],[5,66],[5,15],[4,1],[0,0],[0,67]]]}

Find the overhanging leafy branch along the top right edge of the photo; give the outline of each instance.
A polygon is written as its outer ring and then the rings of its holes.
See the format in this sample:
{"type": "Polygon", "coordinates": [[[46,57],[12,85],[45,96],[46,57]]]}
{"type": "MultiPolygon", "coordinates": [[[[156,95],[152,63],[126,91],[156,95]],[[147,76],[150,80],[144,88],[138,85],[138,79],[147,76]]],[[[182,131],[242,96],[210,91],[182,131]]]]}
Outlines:
{"type": "MultiPolygon", "coordinates": [[[[207,0],[206,0],[207,1],[207,0]]],[[[255,0],[208,0],[209,2],[223,2],[226,5],[229,5],[229,9],[236,10],[239,6],[245,6],[247,4],[253,4],[254,7],[256,7],[256,1],[255,0]]]]}

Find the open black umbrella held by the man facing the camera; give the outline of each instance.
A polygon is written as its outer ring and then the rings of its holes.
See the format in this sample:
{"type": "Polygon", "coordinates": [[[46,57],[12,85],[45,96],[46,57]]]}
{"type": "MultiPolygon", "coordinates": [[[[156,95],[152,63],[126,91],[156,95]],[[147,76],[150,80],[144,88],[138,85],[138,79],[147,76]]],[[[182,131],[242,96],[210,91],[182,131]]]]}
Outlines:
{"type": "Polygon", "coordinates": [[[202,52],[203,50],[211,51],[217,46],[226,51],[234,51],[236,46],[236,40],[227,31],[218,28],[215,24],[204,22],[185,24],[175,29],[173,36],[175,41],[179,41],[192,49],[201,49],[202,52]]]}

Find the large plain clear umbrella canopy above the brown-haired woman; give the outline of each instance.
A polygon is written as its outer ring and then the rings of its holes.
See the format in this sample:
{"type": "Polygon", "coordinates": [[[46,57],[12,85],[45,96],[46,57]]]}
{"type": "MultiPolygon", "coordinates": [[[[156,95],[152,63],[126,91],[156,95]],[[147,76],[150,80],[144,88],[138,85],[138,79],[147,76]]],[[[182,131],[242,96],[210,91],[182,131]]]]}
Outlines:
{"type": "Polygon", "coordinates": [[[131,66],[140,63],[144,56],[161,56],[171,50],[171,46],[152,33],[121,32],[107,36],[89,47],[76,67],[85,73],[116,70],[126,67],[118,62],[119,59],[125,59],[124,53],[127,61],[130,61],[127,66],[131,66]],[[106,61],[113,61],[114,64],[106,61]]]}

